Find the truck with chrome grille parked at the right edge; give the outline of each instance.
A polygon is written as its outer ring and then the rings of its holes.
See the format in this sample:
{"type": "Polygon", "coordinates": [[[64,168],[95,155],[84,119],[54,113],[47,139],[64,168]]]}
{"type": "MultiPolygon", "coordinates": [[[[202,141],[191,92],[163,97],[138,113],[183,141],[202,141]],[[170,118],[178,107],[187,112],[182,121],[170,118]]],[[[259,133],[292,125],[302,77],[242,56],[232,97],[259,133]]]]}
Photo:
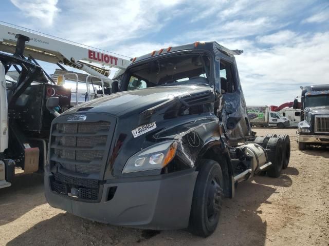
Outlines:
{"type": "MultiPolygon", "coordinates": [[[[301,87],[301,121],[298,124],[299,150],[308,145],[329,146],[329,84],[301,87]]],[[[298,99],[294,100],[294,109],[298,99]]]]}

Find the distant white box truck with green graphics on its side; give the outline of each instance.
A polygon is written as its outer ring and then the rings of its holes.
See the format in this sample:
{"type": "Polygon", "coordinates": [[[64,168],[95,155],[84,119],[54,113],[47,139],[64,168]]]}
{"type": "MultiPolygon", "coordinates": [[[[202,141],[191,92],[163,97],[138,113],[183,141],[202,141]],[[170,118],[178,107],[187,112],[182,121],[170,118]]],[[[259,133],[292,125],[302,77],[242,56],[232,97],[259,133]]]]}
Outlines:
{"type": "Polygon", "coordinates": [[[271,111],[268,106],[247,106],[248,117],[252,126],[289,127],[289,120],[278,112],[271,111]]]}

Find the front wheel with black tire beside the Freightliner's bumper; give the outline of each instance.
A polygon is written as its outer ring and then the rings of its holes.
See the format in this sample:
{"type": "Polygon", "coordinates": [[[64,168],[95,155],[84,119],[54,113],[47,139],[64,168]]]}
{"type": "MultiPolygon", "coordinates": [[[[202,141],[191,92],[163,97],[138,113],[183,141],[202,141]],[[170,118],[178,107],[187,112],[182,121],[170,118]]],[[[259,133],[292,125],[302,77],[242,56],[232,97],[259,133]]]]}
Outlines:
{"type": "Polygon", "coordinates": [[[197,236],[208,237],[215,231],[222,211],[223,174],[218,162],[210,159],[202,159],[198,171],[189,229],[197,236]]]}

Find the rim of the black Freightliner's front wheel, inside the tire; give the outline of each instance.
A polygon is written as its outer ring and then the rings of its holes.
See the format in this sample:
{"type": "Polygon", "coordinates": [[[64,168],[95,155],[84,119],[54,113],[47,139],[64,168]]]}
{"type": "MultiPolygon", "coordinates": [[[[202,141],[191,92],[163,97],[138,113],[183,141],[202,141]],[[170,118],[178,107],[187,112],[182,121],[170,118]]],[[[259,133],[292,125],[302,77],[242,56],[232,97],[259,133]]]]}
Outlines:
{"type": "Polygon", "coordinates": [[[218,179],[213,177],[209,186],[207,197],[207,217],[210,222],[216,218],[221,207],[220,200],[222,188],[218,183],[218,179]]]}

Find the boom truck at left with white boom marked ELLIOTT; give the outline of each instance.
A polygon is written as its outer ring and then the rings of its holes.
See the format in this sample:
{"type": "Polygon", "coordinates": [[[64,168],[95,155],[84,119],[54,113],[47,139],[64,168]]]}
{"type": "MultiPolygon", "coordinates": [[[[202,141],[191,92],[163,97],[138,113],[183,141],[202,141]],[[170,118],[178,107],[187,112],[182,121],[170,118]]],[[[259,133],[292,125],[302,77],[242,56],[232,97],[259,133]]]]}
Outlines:
{"type": "Polygon", "coordinates": [[[64,74],[62,80],[76,78],[76,95],[81,82],[87,84],[86,97],[93,94],[88,91],[89,83],[92,88],[102,86],[96,93],[110,94],[109,68],[119,69],[120,73],[130,63],[107,52],[0,24],[0,189],[11,185],[15,167],[25,173],[43,171],[51,121],[72,106],[70,89],[57,85],[59,76],[64,74]],[[88,74],[83,81],[70,71],[57,73],[54,78],[36,60],[57,64],[64,70],[62,65],[67,65],[88,74]],[[9,76],[10,69],[16,71],[15,79],[9,76]],[[51,97],[57,100],[56,111],[47,110],[51,97]]]}

